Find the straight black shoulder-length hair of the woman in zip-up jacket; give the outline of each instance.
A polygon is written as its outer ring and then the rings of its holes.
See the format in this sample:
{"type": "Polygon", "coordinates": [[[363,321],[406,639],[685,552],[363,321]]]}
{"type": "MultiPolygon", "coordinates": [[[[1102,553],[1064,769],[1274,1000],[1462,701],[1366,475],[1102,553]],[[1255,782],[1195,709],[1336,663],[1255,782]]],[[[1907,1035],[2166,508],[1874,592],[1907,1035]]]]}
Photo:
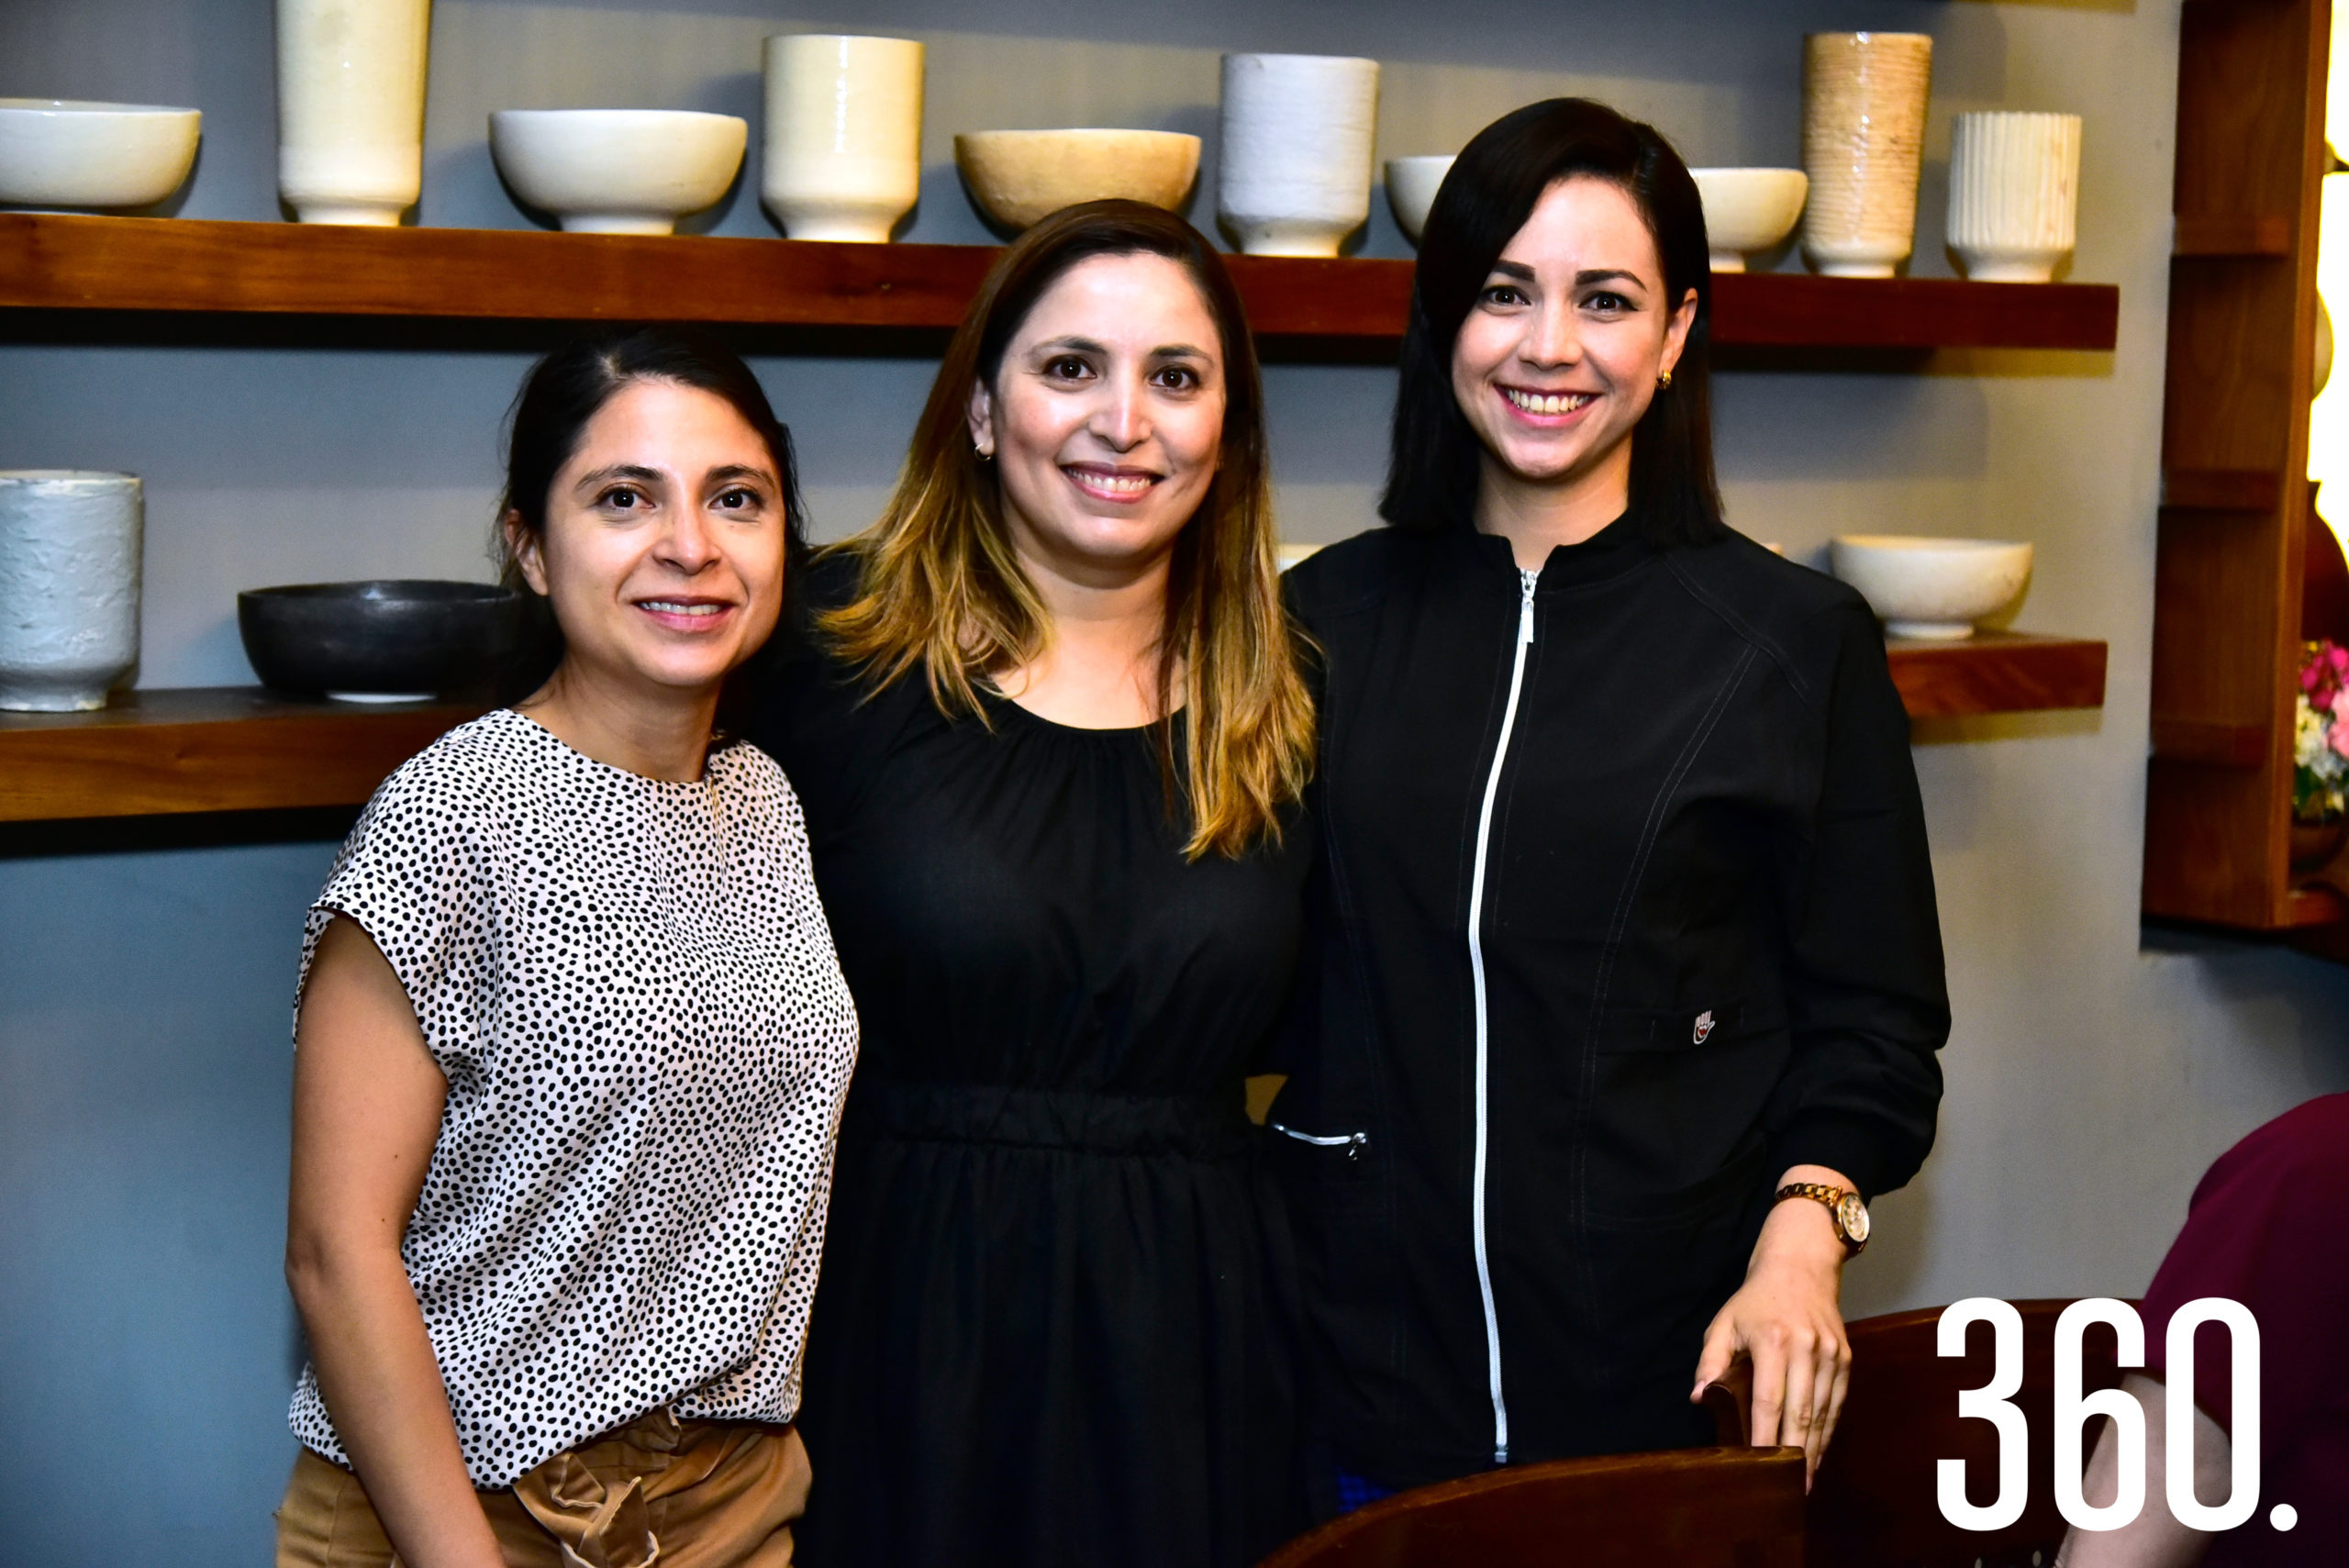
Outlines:
{"type": "Polygon", "coordinates": [[[1379,516],[1398,528],[1470,528],[1480,441],[1452,392],[1452,350],[1494,261],[1562,178],[1611,181],[1630,195],[1675,305],[1696,289],[1696,322],[1630,444],[1630,509],[1651,538],[1717,538],[1722,493],[1712,479],[1712,265],[1705,209],[1689,167],[1656,127],[1590,99],[1546,99],[1475,134],[1428,209],[1412,282],[1395,385],[1395,439],[1379,516]]]}

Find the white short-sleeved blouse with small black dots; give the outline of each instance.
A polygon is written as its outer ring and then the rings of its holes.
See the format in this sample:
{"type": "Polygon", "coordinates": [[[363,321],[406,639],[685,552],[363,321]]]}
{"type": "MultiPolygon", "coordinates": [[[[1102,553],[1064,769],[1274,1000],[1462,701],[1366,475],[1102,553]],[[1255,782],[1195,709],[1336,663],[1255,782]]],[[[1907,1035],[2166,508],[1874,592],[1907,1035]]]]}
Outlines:
{"type": "MultiPolygon", "coordinates": [[[[669,1406],[789,1420],[857,1023],[782,770],[644,779],[500,709],[395,772],[310,908],[449,1108],[402,1258],[474,1486],[669,1406]]],[[[317,1373],[294,1434],[343,1460],[317,1373]]]]}

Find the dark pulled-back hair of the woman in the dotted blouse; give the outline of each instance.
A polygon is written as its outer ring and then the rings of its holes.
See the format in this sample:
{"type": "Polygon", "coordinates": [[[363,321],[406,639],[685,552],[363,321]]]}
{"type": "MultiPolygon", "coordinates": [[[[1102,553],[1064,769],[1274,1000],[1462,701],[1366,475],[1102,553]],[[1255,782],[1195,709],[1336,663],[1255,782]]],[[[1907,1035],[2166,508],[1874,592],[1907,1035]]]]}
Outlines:
{"type": "MultiPolygon", "coordinates": [[[[587,423],[604,404],[639,380],[669,380],[723,397],[742,415],[742,423],[766,441],[768,458],[775,460],[775,479],[782,486],[782,582],[789,596],[799,580],[796,568],[808,554],[808,507],[799,498],[792,432],[775,418],[775,406],[766,401],[766,387],[759,385],[740,354],[691,326],[613,326],[566,343],[531,366],[521,392],[514,394],[514,406],[505,413],[505,495],[498,500],[498,521],[491,535],[498,582],[529,594],[521,563],[505,533],[505,519],[519,516],[524,533],[538,538],[540,545],[545,542],[554,477],[578,453],[587,423]]],[[[554,624],[547,603],[533,599],[531,638],[500,678],[500,688],[510,695],[526,695],[554,674],[561,657],[561,627],[554,624]]]]}

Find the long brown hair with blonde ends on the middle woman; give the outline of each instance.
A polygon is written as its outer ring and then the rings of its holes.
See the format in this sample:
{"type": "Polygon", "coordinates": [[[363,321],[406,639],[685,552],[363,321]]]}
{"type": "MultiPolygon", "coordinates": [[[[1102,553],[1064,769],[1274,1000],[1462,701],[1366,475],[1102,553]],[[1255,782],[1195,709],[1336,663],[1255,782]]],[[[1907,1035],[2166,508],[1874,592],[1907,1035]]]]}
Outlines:
{"type": "Polygon", "coordinates": [[[1182,218],[1139,202],[1088,202],[1003,251],[947,345],[888,509],[832,547],[855,556],[862,575],[817,629],[876,690],[918,664],[940,711],[984,723],[980,683],[1034,662],[1052,638],[1052,615],[1012,552],[996,467],[970,446],[970,392],[996,383],[1012,333],[1071,268],[1139,254],[1182,265],[1221,336],[1224,437],[1207,495],[1174,540],[1156,690],[1170,803],[1191,812],[1184,852],[1238,857],[1278,843],[1280,812],[1304,793],[1313,699],[1299,674],[1304,634],[1280,603],[1257,350],[1231,275],[1182,218]]]}

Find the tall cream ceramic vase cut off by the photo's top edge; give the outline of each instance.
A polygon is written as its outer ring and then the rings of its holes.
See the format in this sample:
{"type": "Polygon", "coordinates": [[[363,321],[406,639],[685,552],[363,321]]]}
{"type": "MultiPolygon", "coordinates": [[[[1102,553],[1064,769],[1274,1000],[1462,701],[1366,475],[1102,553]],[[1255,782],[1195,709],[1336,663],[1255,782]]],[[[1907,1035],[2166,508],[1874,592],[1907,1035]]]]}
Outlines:
{"type": "Polygon", "coordinates": [[[303,223],[416,204],[430,31],[432,0],[277,0],[277,195],[303,223]]]}

